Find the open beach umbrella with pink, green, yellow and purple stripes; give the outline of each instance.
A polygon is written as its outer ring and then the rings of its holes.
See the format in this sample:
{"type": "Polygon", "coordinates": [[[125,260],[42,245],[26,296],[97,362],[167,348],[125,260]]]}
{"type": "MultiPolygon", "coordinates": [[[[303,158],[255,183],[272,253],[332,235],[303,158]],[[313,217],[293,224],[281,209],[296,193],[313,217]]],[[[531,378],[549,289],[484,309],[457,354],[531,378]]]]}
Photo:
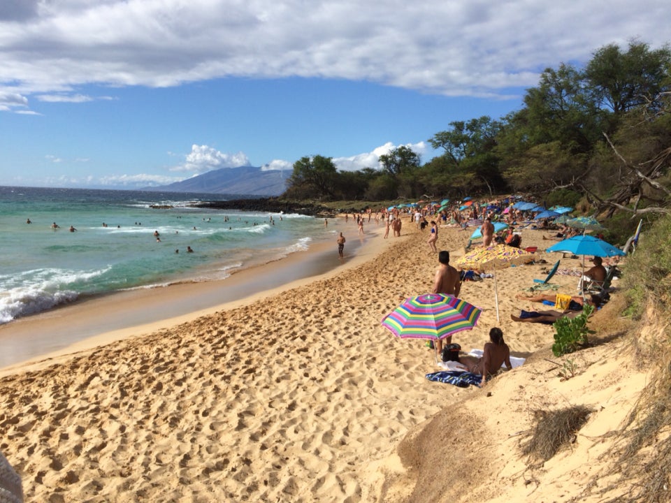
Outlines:
{"type": "Polygon", "coordinates": [[[481,309],[453,296],[426,293],[407,298],[384,316],[382,326],[402,339],[445,339],[477,323],[481,309]]]}

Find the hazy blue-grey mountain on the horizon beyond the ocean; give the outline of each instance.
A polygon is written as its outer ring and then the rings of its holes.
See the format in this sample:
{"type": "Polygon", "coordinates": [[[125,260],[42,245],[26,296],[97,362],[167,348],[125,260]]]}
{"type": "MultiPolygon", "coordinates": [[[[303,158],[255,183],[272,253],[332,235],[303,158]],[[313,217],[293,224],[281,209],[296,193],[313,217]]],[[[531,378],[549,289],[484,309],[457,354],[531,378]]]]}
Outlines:
{"type": "Polygon", "coordinates": [[[287,189],[288,170],[261,170],[254,166],[220,168],[181,182],[147,191],[200,192],[205,194],[240,194],[245,196],[280,196],[287,189]]]}

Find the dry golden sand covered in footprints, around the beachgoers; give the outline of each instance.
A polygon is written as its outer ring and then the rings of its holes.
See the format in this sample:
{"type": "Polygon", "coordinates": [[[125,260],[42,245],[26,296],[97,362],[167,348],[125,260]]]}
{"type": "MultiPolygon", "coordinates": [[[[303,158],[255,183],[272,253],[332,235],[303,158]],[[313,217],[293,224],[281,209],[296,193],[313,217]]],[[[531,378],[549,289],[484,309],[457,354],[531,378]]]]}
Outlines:
{"type": "MultiPolygon", "coordinates": [[[[356,240],[352,221],[338,226],[356,240]]],[[[547,349],[552,327],[510,319],[539,307],[516,296],[556,260],[563,273],[582,261],[544,254],[542,232],[521,231],[545,263],[496,272],[500,320],[492,278],[463,284],[461,298],[483,312],[454,342],[482,349],[500,326],[513,356],[528,358],[483,389],[463,389],[428,381],[440,370],[431,349],[380,326],[403,298],[431,291],[438,263],[427,231],[405,219],[403,236],[384,240],[368,227],[356,258],[325,274],[4,369],[0,450],[26,501],[589,500],[586,481],[607,467],[596,461],[609,448],[599,435],[622,421],[647,374],[616,341],[581,351],[579,374],[561,380],[562,360],[547,349]],[[530,471],[519,432],[533,410],[567,402],[595,412],[575,449],[530,471]]],[[[438,248],[454,262],[471,232],[441,228],[438,248]]],[[[553,283],[573,293],[577,277],[553,283]]],[[[616,317],[612,303],[596,323],[616,317]]],[[[62,320],[35,323],[48,333],[62,320]]]]}

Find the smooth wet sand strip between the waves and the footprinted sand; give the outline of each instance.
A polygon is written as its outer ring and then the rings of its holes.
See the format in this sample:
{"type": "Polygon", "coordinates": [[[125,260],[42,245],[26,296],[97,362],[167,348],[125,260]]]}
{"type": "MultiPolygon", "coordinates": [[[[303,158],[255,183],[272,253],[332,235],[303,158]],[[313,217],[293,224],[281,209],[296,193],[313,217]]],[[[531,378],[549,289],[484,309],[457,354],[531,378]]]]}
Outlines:
{"type": "MultiPolygon", "coordinates": [[[[338,217],[337,222],[338,229],[344,228],[344,219],[338,217]]],[[[333,243],[317,241],[308,250],[242,268],[225,279],[117,291],[16,319],[0,326],[0,376],[274,297],[338,274],[379,253],[384,243],[375,246],[375,242],[384,228],[368,229],[363,239],[356,235],[347,240],[342,261],[333,243]]]]}

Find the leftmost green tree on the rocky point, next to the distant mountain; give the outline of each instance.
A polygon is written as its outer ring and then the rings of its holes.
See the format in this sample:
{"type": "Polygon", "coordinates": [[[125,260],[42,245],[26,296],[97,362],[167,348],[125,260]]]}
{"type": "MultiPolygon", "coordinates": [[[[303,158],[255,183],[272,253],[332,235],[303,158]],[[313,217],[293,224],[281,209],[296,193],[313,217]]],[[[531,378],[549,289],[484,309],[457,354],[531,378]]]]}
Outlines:
{"type": "Polygon", "coordinates": [[[331,157],[302,157],[294,163],[294,173],[291,173],[287,182],[287,195],[298,198],[331,198],[337,177],[338,170],[331,157]]]}

